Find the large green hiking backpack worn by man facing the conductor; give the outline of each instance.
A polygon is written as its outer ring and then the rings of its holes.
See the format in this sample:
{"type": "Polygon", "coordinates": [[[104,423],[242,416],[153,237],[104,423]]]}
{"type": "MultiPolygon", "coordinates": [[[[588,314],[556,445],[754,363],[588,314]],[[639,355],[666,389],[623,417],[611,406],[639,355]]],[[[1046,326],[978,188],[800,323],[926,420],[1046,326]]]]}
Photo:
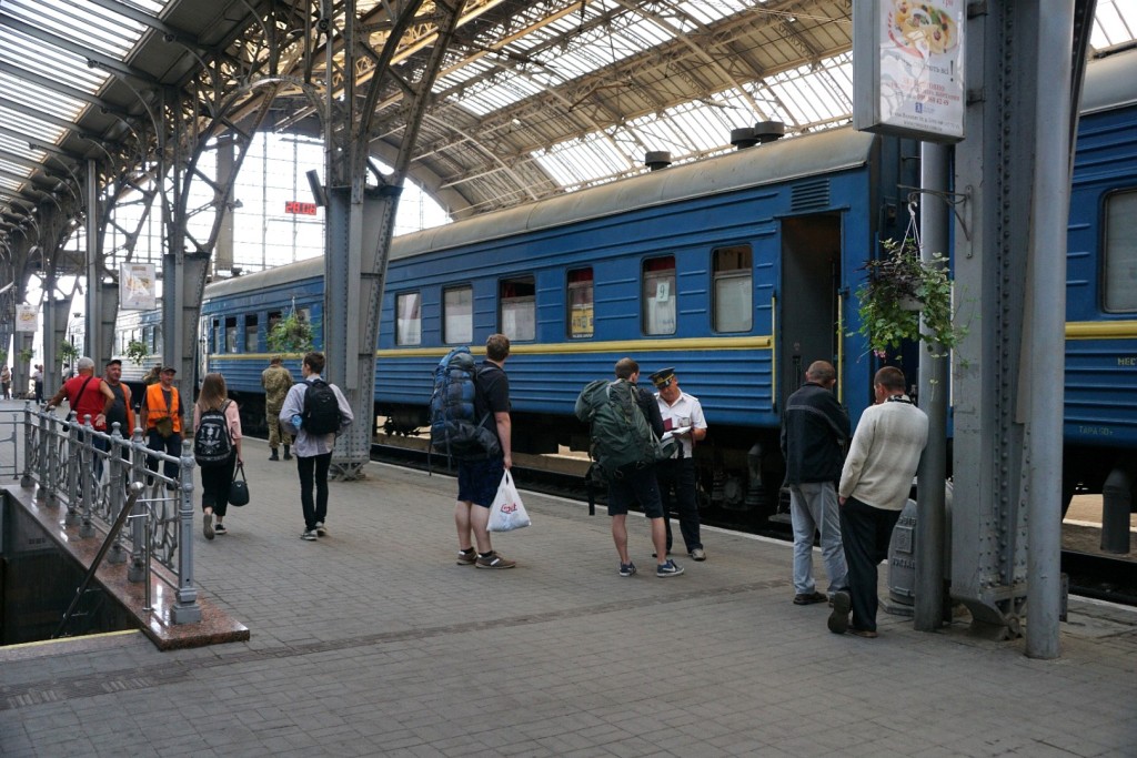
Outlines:
{"type": "Polygon", "coordinates": [[[576,418],[591,424],[595,475],[619,476],[630,467],[654,464],[674,452],[659,444],[637,402],[636,385],[623,380],[589,382],[576,398],[576,418]]]}

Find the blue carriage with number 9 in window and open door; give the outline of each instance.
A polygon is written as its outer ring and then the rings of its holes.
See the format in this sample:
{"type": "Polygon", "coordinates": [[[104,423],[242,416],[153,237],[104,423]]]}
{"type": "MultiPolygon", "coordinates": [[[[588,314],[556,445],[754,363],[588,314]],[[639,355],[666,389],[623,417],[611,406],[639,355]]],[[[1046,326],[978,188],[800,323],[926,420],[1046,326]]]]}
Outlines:
{"type": "Polygon", "coordinates": [[[584,450],[580,389],[632,356],[645,382],[677,368],[711,427],[704,489],[753,508],[760,470],[780,476],[781,407],[811,361],[840,367],[854,418],[869,401],[849,293],[877,240],[902,231],[916,155],[832,130],[398,238],[376,373],[387,431],[424,424],[449,347],[500,331],[514,449],[584,450]]]}

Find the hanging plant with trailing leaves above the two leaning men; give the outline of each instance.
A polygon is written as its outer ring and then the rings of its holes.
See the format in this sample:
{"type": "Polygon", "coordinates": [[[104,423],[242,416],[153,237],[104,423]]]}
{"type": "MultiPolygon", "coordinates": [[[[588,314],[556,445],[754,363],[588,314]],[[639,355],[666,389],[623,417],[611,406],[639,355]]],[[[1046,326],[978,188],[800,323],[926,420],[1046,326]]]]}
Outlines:
{"type": "Polygon", "coordinates": [[[946,356],[968,334],[966,325],[955,323],[947,259],[936,253],[931,261],[922,261],[912,239],[886,240],[882,247],[885,255],[863,267],[869,280],[856,291],[861,326],[849,336],[864,335],[880,358],[904,342],[918,341],[927,343],[932,356],[946,356]]]}

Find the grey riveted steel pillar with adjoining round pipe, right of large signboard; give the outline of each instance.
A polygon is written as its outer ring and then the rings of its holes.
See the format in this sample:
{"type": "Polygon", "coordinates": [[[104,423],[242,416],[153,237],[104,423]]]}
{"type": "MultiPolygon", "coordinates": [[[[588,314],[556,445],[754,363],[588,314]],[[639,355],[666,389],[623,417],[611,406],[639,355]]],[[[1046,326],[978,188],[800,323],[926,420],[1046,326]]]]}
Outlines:
{"type": "MultiPolygon", "coordinates": [[[[1073,0],[1057,5],[1072,8],[1073,0]]],[[[1064,282],[1067,207],[1054,192],[1062,181],[1044,164],[1069,170],[1054,152],[1068,155],[1069,141],[1057,144],[1054,133],[1069,124],[1069,101],[1065,113],[1044,114],[1040,98],[1063,84],[1069,95],[1069,8],[1047,6],[1044,14],[1034,0],[973,3],[968,22],[966,139],[956,145],[955,181],[966,201],[954,264],[971,333],[953,373],[952,595],[971,611],[973,631],[996,639],[1021,633],[1030,583],[1056,586],[1051,568],[1040,567],[1056,566],[1061,488],[1047,491],[1039,475],[1062,469],[1064,297],[1055,299],[1051,277],[1064,282]],[[1065,25],[1063,44],[1051,44],[1057,34],[1051,24],[1065,25]],[[1061,124],[1051,128],[1041,124],[1047,119],[1061,124]],[[1056,365],[1056,373],[1038,373],[1041,365],[1056,365]]],[[[1038,627],[1031,634],[1056,640],[1056,614],[1031,622],[1038,627]]]]}

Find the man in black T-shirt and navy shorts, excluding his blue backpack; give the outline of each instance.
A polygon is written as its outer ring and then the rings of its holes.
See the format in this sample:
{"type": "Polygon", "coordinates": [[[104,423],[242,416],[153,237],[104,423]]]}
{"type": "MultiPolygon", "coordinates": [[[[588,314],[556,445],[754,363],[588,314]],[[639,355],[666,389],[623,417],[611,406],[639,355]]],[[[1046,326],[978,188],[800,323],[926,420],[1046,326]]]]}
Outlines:
{"type": "Polygon", "coordinates": [[[513,568],[517,561],[503,558],[490,542],[490,507],[507,468],[513,467],[513,422],[509,418],[509,377],[505,361],[509,338],[491,334],[485,340],[485,360],[474,373],[474,418],[497,435],[501,453],[481,460],[458,459],[458,498],[454,523],[458,528],[458,565],[476,568],[513,568]],[[476,548],[476,551],[475,551],[476,548]]]}

